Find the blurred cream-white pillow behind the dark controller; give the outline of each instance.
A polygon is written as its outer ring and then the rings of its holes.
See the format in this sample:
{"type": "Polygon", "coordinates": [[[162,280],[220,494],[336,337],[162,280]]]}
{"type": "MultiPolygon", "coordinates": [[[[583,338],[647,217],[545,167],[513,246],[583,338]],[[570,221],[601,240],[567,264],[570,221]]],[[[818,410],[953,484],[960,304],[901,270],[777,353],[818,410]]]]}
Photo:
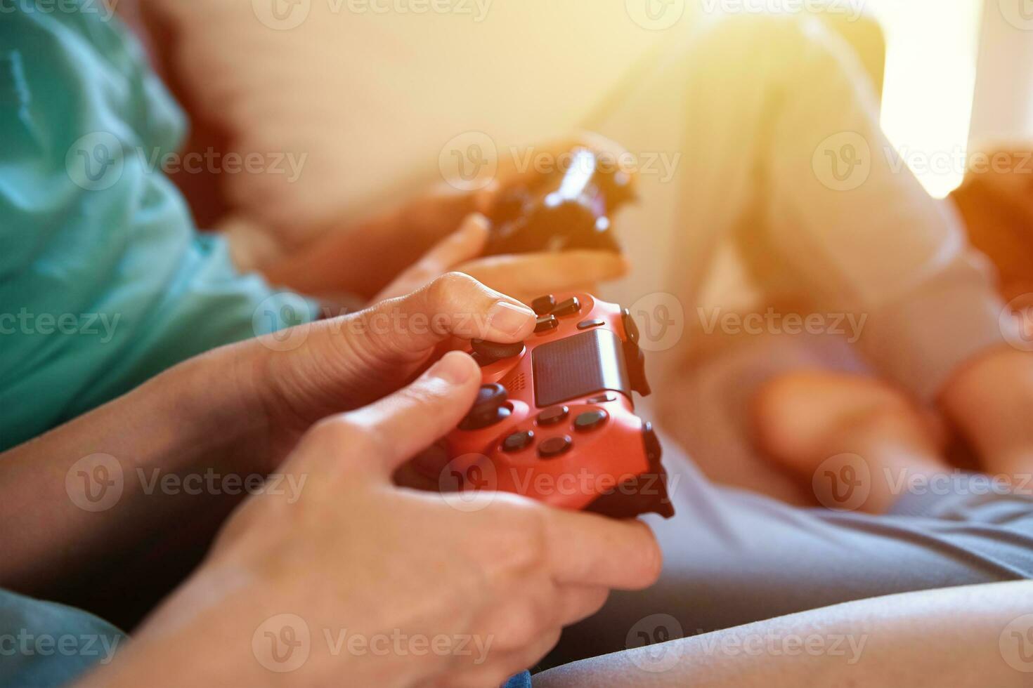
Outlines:
{"type": "Polygon", "coordinates": [[[285,163],[220,179],[234,211],[288,244],[440,179],[464,132],[504,151],[575,128],[662,36],[624,2],[149,2],[176,29],[171,67],[198,114],[237,152],[304,160],[296,181],[285,163]]]}

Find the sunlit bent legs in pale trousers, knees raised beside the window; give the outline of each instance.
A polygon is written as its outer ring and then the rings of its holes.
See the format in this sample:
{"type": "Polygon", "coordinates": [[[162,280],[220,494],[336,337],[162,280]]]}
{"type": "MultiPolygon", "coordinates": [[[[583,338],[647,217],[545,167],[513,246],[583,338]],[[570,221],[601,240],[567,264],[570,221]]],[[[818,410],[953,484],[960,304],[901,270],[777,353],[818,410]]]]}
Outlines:
{"type": "Polygon", "coordinates": [[[671,174],[641,175],[641,203],[617,223],[633,288],[604,291],[640,300],[650,318],[660,293],[675,297],[685,334],[651,342],[653,369],[680,374],[715,309],[742,310],[725,294],[707,300],[728,242],[762,296],[803,297],[825,326],[864,319],[858,348],[924,400],[963,362],[1006,346],[994,270],[952,205],[897,157],[864,68],[815,18],[700,27],[599,129],[632,151],[681,154],[671,174]],[[645,269],[659,256],[665,273],[645,269]]]}

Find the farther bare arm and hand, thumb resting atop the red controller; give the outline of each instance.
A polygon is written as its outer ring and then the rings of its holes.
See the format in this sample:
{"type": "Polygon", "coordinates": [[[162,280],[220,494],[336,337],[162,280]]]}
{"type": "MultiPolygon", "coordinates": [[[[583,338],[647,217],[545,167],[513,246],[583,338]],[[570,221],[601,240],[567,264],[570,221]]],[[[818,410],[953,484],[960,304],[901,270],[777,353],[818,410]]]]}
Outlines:
{"type": "Polygon", "coordinates": [[[0,587],[50,593],[68,570],[83,576],[120,551],[185,539],[198,513],[225,516],[245,480],[260,487],[312,423],[395,391],[442,341],[519,340],[533,326],[529,308],[447,274],[404,298],[182,363],[0,455],[0,587]]]}

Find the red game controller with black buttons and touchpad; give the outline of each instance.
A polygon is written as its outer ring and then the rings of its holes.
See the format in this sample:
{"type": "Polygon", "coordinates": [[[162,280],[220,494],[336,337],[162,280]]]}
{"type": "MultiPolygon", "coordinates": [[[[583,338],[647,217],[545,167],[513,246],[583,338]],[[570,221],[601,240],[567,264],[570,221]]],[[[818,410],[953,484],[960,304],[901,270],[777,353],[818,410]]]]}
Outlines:
{"type": "Polygon", "coordinates": [[[615,518],[674,516],[660,441],[631,399],[650,389],[628,310],[589,294],[532,306],[527,341],[471,342],[477,400],[440,444],[447,466],[417,468],[445,490],[513,492],[615,518]]]}

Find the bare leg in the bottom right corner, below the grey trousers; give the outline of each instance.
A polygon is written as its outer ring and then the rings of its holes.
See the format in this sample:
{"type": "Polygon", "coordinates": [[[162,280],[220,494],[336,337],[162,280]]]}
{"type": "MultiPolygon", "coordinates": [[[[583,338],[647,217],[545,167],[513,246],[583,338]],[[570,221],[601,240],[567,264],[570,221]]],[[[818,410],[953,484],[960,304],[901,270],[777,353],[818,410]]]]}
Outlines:
{"type": "Polygon", "coordinates": [[[1020,688],[1033,620],[1016,619],[1030,609],[1029,582],[878,597],[584,660],[534,685],[1020,688]]]}

